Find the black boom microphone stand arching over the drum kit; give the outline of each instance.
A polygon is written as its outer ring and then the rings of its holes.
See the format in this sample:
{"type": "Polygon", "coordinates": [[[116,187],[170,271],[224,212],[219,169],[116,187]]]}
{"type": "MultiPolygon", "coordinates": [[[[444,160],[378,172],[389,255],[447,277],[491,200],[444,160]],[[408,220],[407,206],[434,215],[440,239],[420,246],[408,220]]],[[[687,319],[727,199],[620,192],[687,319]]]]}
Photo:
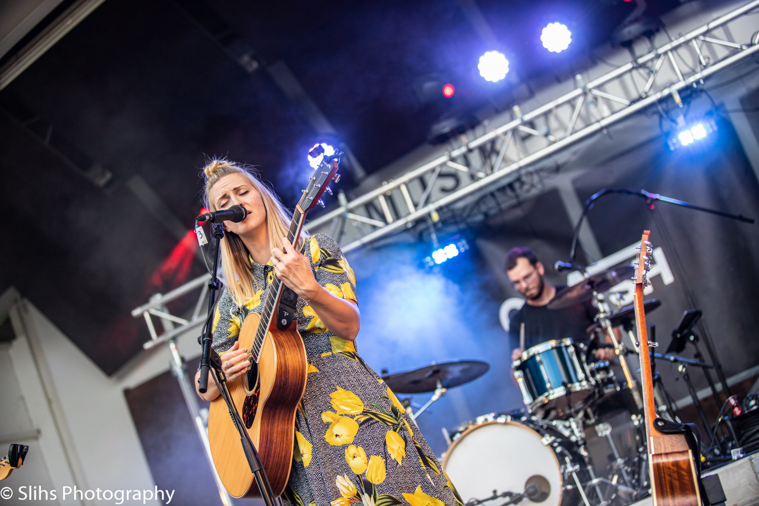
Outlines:
{"type": "MultiPolygon", "coordinates": [[[[688,287],[687,281],[685,281],[685,276],[682,273],[682,269],[680,269],[680,262],[677,256],[677,252],[674,247],[672,247],[672,244],[669,243],[669,237],[666,232],[666,227],[664,226],[661,217],[658,215],[658,213],[653,212],[654,201],[660,201],[660,202],[666,202],[669,204],[674,204],[676,206],[683,206],[687,207],[689,209],[695,209],[697,211],[701,212],[708,212],[713,215],[722,216],[723,218],[731,218],[734,220],[737,220],[739,222],[744,223],[754,223],[754,219],[752,218],[746,218],[743,215],[733,215],[729,212],[722,212],[717,211],[715,209],[707,209],[706,207],[696,206],[694,204],[685,202],[685,200],[676,200],[672,199],[668,196],[659,195],[658,193],[650,193],[646,190],[629,190],[627,188],[604,188],[603,190],[600,190],[597,193],[594,193],[594,195],[591,196],[586,202],[582,209],[582,213],[580,215],[580,219],[578,220],[577,225],[575,226],[575,235],[572,237],[572,248],[569,252],[569,262],[575,262],[575,256],[577,253],[577,244],[578,244],[578,238],[580,235],[580,228],[582,226],[582,222],[585,218],[585,215],[587,215],[587,212],[589,212],[591,209],[593,209],[594,202],[603,195],[607,195],[609,193],[619,193],[622,195],[631,195],[631,196],[638,196],[641,198],[644,198],[646,202],[648,203],[648,208],[651,210],[651,214],[653,215],[653,221],[657,223],[657,226],[662,231],[663,235],[663,243],[667,250],[669,250],[669,253],[672,255],[672,266],[675,270],[676,276],[680,281],[680,284],[682,284],[683,291],[685,292],[685,298],[688,299],[688,303],[691,305],[691,307],[699,307],[698,303],[696,303],[694,294],[691,292],[691,289],[688,287]]],[[[725,373],[722,370],[722,363],[720,363],[719,358],[716,356],[716,352],[714,351],[714,348],[712,346],[711,338],[709,336],[709,332],[707,331],[705,322],[703,319],[701,319],[700,322],[698,322],[698,325],[701,327],[701,338],[704,340],[704,344],[707,348],[707,353],[709,354],[714,369],[716,371],[717,377],[720,379],[720,384],[722,385],[723,392],[727,397],[730,396],[730,389],[727,385],[727,379],[725,377],[725,373]]]]}

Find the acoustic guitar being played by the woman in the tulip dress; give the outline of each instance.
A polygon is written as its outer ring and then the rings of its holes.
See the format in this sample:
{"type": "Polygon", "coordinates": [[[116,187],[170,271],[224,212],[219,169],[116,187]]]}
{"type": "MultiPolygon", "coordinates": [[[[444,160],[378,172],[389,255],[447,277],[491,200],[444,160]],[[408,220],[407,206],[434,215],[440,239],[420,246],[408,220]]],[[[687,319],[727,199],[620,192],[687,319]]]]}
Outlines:
{"type": "MultiPolygon", "coordinates": [[[[288,231],[291,244],[297,244],[306,213],[320,202],[327,185],[339,181],[337,168],[337,159],[323,160],[310,178],[293,212],[288,231]]],[[[248,350],[251,365],[246,375],[228,384],[235,409],[257,448],[275,496],[282,494],[290,476],[295,413],[306,388],[307,373],[306,349],[297,323],[292,323],[292,314],[289,320],[277,316],[283,289],[282,281],[274,276],[263,311],[260,315],[249,313],[245,318],[238,340],[240,347],[248,350]]],[[[221,396],[209,407],[208,439],[213,464],[229,495],[261,497],[240,433],[221,396]]]]}

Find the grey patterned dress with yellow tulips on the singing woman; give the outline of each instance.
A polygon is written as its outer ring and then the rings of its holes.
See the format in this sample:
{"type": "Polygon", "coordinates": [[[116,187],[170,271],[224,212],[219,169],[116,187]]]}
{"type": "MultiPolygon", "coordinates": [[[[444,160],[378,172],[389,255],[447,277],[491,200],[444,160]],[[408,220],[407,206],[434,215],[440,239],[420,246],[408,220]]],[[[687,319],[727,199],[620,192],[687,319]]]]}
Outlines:
{"type": "MultiPolygon", "coordinates": [[[[310,237],[304,255],[319,284],[357,300],[353,270],[332,237],[310,237]]],[[[242,307],[223,292],[213,324],[217,352],[235,344],[245,316],[263,310],[273,272],[251,260],[260,290],[242,307]]],[[[291,506],[463,506],[416,424],[354,342],[329,332],[304,299],[295,318],[308,375],[284,493],[291,506]]]]}

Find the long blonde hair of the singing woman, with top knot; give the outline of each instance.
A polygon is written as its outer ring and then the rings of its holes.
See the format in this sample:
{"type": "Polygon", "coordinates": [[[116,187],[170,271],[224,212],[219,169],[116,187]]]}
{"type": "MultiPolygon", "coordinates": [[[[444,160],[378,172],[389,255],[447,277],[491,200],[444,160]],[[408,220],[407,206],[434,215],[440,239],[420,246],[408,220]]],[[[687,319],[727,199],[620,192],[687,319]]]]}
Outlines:
{"type": "MultiPolygon", "coordinates": [[[[216,211],[216,203],[209,201],[209,193],[219,179],[229,174],[240,174],[253,185],[263,200],[263,208],[266,209],[266,231],[269,236],[269,247],[282,248],[282,237],[287,237],[292,220],[292,213],[282,205],[279,197],[269,186],[263,183],[250,168],[230,162],[227,159],[212,159],[203,172],[206,176],[206,188],[203,193],[203,201],[211,211],[216,211]]],[[[308,232],[303,228],[295,248],[300,250],[308,232]]],[[[225,232],[222,238],[222,269],[226,279],[226,287],[238,306],[242,306],[249,300],[258,289],[258,284],[250,275],[250,252],[245,247],[238,234],[225,232]]]]}

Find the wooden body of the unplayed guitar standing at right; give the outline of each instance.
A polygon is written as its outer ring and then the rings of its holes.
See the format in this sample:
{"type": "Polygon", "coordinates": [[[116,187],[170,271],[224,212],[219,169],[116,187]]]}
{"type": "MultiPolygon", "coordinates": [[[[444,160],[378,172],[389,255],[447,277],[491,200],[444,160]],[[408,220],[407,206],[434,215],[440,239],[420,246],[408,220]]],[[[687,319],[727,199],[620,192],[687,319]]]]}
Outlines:
{"type": "Polygon", "coordinates": [[[685,435],[652,435],[650,454],[651,491],[654,506],[701,506],[693,453],[685,435]]]}

